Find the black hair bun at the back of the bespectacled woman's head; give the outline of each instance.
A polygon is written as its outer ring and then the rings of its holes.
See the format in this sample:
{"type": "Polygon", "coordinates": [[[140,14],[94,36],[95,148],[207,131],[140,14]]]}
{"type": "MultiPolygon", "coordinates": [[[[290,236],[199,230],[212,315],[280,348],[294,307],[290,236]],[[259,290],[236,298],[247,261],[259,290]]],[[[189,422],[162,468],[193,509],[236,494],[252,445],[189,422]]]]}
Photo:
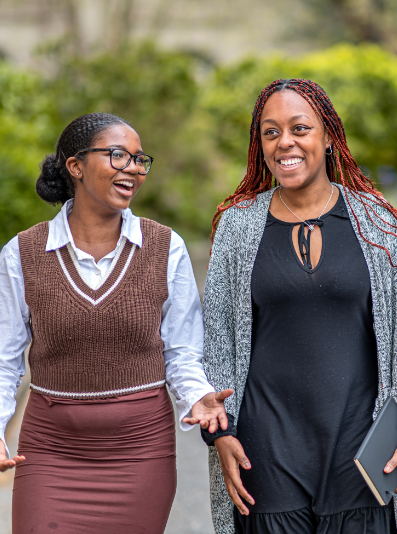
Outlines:
{"type": "Polygon", "coordinates": [[[56,154],[46,156],[41,164],[41,174],[36,182],[36,192],[50,204],[64,204],[72,197],[62,176],[56,154]]]}

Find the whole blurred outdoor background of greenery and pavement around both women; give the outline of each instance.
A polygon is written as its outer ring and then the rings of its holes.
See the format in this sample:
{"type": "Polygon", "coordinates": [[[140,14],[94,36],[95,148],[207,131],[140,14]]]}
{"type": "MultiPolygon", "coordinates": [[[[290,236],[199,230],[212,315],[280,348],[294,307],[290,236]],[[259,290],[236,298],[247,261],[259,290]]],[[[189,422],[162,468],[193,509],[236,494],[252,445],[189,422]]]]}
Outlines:
{"type": "MultiPolygon", "coordinates": [[[[397,203],[396,27],[395,0],[0,0],[0,247],[59,210],[35,180],[64,127],[116,113],[154,157],[132,210],[182,235],[202,290],[212,216],[244,176],[251,111],[278,78],[324,87],[356,160],[397,203]]],[[[210,534],[196,430],[178,433],[178,455],[167,532],[210,534]]],[[[2,533],[11,483],[0,476],[2,533]]]]}

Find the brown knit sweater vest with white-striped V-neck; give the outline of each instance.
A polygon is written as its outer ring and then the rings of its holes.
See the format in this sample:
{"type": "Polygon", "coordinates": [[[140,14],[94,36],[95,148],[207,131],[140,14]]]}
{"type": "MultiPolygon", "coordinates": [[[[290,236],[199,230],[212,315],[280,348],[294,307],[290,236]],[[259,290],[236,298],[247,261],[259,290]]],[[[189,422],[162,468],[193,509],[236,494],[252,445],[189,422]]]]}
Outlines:
{"type": "Polygon", "coordinates": [[[142,247],[126,241],[97,290],[81,279],[66,246],[45,251],[47,222],[19,234],[36,392],[89,399],[165,383],[160,325],[171,230],[142,218],[141,229],[142,247]]]}

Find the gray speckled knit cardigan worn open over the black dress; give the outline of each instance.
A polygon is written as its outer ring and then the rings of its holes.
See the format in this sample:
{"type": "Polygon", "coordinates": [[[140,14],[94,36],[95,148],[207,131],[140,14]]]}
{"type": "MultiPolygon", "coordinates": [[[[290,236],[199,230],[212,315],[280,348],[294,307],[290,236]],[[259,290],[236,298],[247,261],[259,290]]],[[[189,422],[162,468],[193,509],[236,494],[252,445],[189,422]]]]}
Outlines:
{"type": "MultiPolygon", "coordinates": [[[[379,368],[375,418],[388,396],[392,395],[397,400],[397,269],[391,266],[384,250],[369,245],[361,238],[344,189],[340,185],[337,187],[343,195],[370,276],[379,368]]],[[[272,189],[259,194],[250,207],[245,209],[232,207],[224,212],[216,231],[204,291],[203,365],[208,380],[217,391],[234,389],[234,395],[225,401],[225,408],[234,416],[235,426],[250,366],[251,274],[274,191],[275,189],[272,189]]],[[[370,241],[387,247],[393,262],[397,263],[397,239],[371,223],[362,203],[351,193],[348,193],[348,197],[363,235],[370,241]]],[[[373,204],[370,195],[367,199],[368,204],[384,220],[396,224],[385,208],[373,204]]],[[[242,203],[246,206],[248,204],[249,202],[242,203]]],[[[369,212],[373,214],[371,209],[369,212]]],[[[375,222],[380,227],[390,230],[390,227],[379,222],[377,217],[375,222]]],[[[209,447],[208,450],[211,509],[215,532],[234,534],[233,503],[226,492],[218,454],[215,447],[209,447]]],[[[394,503],[396,509],[396,500],[394,503]]]]}

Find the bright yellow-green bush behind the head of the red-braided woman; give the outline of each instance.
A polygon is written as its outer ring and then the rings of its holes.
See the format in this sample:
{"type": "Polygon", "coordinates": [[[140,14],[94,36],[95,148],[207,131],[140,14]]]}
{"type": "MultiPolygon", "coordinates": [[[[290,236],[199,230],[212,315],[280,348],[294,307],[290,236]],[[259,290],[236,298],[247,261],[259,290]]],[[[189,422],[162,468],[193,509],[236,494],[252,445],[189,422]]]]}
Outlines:
{"type": "Polygon", "coordinates": [[[246,165],[251,113],[262,89],[280,78],[320,84],[341,117],[358,163],[376,175],[397,168],[397,57],[375,45],[338,45],[301,58],[247,59],[219,68],[203,105],[216,124],[218,146],[246,165]]]}

